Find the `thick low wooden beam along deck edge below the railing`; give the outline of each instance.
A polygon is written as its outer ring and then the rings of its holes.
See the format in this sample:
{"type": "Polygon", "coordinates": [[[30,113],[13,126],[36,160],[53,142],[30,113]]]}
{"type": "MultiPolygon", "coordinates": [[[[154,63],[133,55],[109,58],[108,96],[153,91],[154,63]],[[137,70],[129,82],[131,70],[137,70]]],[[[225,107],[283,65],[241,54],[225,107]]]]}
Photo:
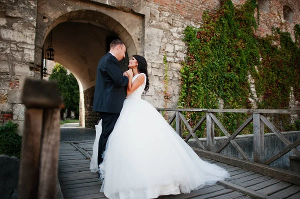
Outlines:
{"type": "Polygon", "coordinates": [[[197,148],[192,148],[192,149],[198,156],[215,160],[218,162],[222,162],[235,167],[239,167],[242,169],[246,169],[248,171],[255,172],[257,174],[269,176],[271,178],[275,178],[281,181],[289,182],[300,186],[300,174],[286,171],[283,169],[269,167],[267,165],[263,165],[259,163],[249,162],[238,158],[224,156],[222,154],[217,154],[210,151],[204,151],[197,148]]]}

